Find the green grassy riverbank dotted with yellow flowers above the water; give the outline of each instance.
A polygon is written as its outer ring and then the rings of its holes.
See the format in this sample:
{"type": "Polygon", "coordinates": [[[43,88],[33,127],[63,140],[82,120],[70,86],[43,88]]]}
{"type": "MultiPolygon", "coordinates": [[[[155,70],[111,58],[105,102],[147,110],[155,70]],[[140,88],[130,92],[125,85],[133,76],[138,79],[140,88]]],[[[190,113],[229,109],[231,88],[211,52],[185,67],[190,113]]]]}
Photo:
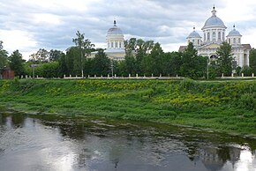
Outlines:
{"type": "Polygon", "coordinates": [[[0,108],[256,135],[256,81],[0,80],[0,108]]]}

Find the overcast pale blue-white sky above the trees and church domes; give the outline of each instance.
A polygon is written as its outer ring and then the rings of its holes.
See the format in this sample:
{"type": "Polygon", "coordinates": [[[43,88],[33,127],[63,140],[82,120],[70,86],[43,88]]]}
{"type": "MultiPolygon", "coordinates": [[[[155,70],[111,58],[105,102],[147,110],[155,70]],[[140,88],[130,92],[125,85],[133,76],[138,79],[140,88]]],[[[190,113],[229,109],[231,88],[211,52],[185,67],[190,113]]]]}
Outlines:
{"type": "Polygon", "coordinates": [[[96,48],[106,48],[105,36],[113,19],[131,37],[160,42],[164,51],[186,44],[192,27],[211,17],[233,24],[242,43],[256,47],[256,1],[253,0],[3,0],[0,2],[0,40],[10,54],[19,49],[27,59],[39,48],[65,50],[79,30],[96,48]]]}

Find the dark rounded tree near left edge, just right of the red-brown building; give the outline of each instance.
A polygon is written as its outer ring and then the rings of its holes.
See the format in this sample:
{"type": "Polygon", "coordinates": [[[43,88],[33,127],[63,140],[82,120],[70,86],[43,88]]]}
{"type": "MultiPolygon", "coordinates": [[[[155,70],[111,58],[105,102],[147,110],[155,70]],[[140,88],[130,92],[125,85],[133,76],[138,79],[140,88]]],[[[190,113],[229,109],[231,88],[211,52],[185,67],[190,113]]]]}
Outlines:
{"type": "Polygon", "coordinates": [[[14,71],[16,76],[21,76],[24,74],[24,66],[25,60],[22,59],[22,55],[19,53],[19,50],[15,50],[11,56],[8,58],[9,65],[12,71],[14,71]]]}

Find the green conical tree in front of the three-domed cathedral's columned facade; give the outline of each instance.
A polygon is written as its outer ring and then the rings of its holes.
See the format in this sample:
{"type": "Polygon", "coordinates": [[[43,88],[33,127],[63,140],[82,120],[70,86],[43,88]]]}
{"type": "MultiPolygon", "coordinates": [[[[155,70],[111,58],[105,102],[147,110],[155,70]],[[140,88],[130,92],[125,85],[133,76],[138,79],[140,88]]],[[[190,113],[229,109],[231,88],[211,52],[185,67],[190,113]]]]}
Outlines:
{"type": "Polygon", "coordinates": [[[217,49],[217,66],[221,73],[230,76],[232,73],[232,61],[234,58],[231,54],[231,46],[227,42],[222,42],[220,48],[217,49]]]}

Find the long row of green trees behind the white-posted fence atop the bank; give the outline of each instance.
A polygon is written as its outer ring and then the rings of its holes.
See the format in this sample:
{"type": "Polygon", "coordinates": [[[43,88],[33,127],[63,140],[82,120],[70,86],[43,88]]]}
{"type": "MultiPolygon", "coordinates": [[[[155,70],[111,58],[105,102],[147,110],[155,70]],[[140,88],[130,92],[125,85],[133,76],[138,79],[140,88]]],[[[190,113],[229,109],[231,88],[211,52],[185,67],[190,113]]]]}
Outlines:
{"type": "Polygon", "coordinates": [[[8,56],[0,41],[0,70],[9,66],[16,76],[34,75],[43,78],[63,78],[72,76],[107,76],[116,74],[119,77],[135,76],[183,76],[187,78],[215,78],[222,75],[230,76],[232,71],[241,75],[251,76],[256,73],[256,50],[250,53],[251,66],[237,67],[231,55],[231,47],[223,42],[217,51],[217,59],[209,61],[207,56],[198,56],[192,43],[183,52],[163,52],[161,45],[154,41],[143,41],[132,38],[124,41],[125,59],[111,61],[103,49],[94,48],[94,44],[85,39],[84,34],[77,32],[72,40],[75,46],[67,48],[65,53],[40,48],[32,54],[28,61],[23,59],[19,50],[8,56]],[[96,53],[90,58],[91,53],[96,53]]]}

